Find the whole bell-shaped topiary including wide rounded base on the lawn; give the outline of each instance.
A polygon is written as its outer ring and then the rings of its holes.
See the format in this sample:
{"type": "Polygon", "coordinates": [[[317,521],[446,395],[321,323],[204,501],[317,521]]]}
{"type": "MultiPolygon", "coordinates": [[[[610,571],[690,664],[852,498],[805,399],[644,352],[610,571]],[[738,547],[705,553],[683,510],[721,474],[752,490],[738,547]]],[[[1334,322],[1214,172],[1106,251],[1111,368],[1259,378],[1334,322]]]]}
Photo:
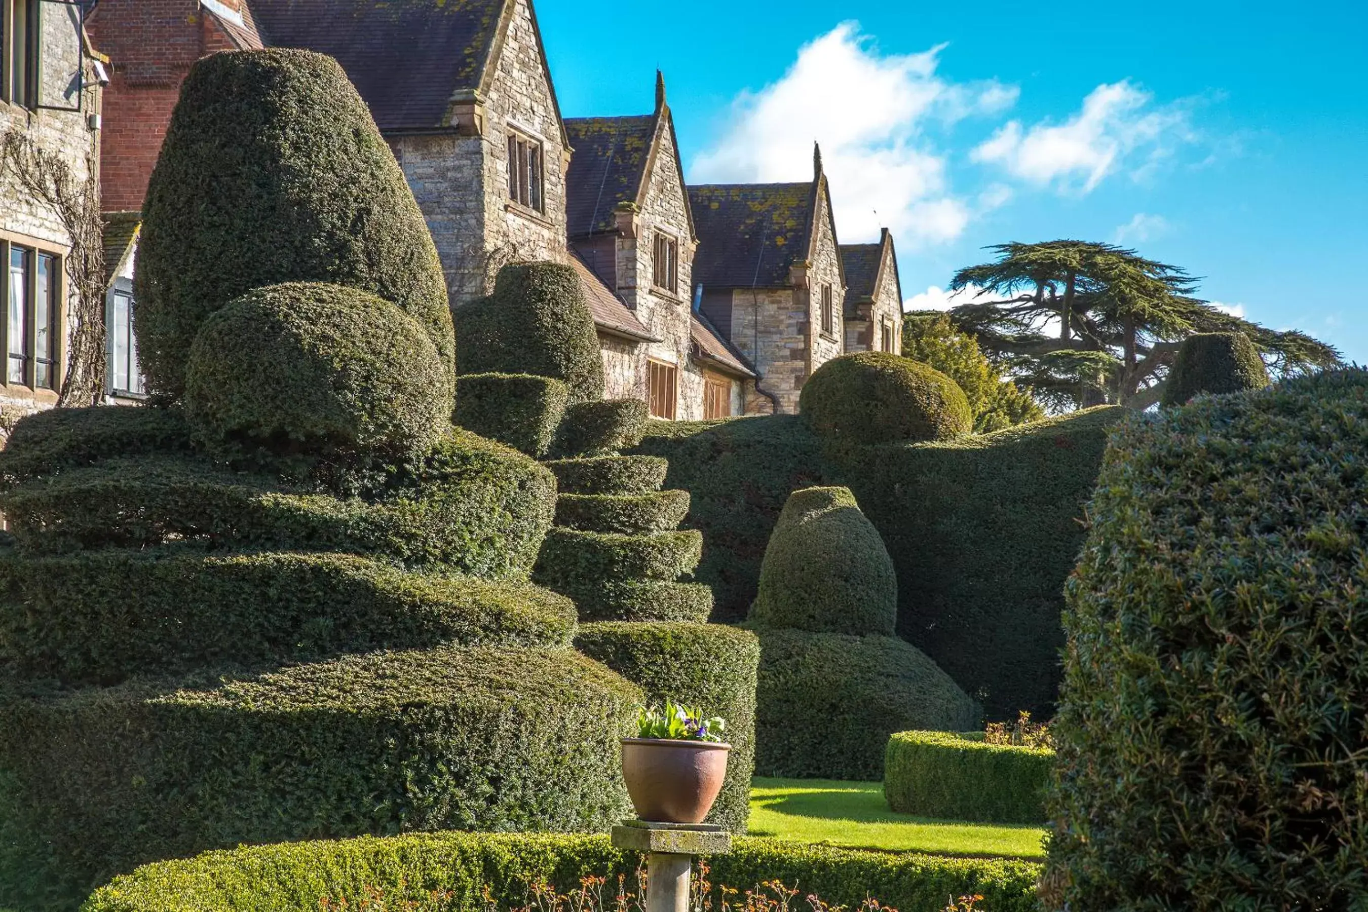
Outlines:
{"type": "Polygon", "coordinates": [[[897,578],[847,488],[795,491],[780,514],[747,626],[761,637],[761,775],[877,779],[906,729],[971,729],[982,710],[892,636],[897,578]]]}

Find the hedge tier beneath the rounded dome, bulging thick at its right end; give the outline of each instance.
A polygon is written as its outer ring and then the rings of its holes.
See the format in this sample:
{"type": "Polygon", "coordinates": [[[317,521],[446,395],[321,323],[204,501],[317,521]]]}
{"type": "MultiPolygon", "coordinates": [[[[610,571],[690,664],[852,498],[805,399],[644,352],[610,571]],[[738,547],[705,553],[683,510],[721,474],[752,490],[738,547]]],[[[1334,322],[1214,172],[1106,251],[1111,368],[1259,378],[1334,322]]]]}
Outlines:
{"type": "Polygon", "coordinates": [[[510,577],[535,561],[554,498],[554,477],[535,461],[457,431],[376,499],[298,492],[189,457],[141,457],[22,484],[0,495],[0,509],[30,554],[190,541],[510,577]]]}

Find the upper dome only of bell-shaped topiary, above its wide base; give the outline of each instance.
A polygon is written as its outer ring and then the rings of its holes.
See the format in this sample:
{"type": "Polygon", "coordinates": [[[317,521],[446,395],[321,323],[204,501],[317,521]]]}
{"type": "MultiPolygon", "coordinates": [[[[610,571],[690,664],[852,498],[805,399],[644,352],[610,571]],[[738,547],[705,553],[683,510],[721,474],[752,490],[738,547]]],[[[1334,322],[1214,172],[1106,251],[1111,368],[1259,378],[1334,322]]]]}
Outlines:
{"type": "Polygon", "coordinates": [[[813,633],[893,633],[893,561],[848,488],[789,496],[765,550],[750,619],[813,633]]]}

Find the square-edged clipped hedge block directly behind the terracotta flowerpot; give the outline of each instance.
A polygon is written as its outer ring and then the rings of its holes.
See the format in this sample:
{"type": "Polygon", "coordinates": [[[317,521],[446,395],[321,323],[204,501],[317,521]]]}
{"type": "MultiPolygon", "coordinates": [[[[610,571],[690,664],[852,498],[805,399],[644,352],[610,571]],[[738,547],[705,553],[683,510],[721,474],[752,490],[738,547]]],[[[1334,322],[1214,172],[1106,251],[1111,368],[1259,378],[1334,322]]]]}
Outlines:
{"type": "Polygon", "coordinates": [[[721,623],[586,623],[575,647],[640,686],[650,701],[674,700],[726,719],[726,782],[707,822],[746,833],[761,659],[755,634],[721,623]]]}

